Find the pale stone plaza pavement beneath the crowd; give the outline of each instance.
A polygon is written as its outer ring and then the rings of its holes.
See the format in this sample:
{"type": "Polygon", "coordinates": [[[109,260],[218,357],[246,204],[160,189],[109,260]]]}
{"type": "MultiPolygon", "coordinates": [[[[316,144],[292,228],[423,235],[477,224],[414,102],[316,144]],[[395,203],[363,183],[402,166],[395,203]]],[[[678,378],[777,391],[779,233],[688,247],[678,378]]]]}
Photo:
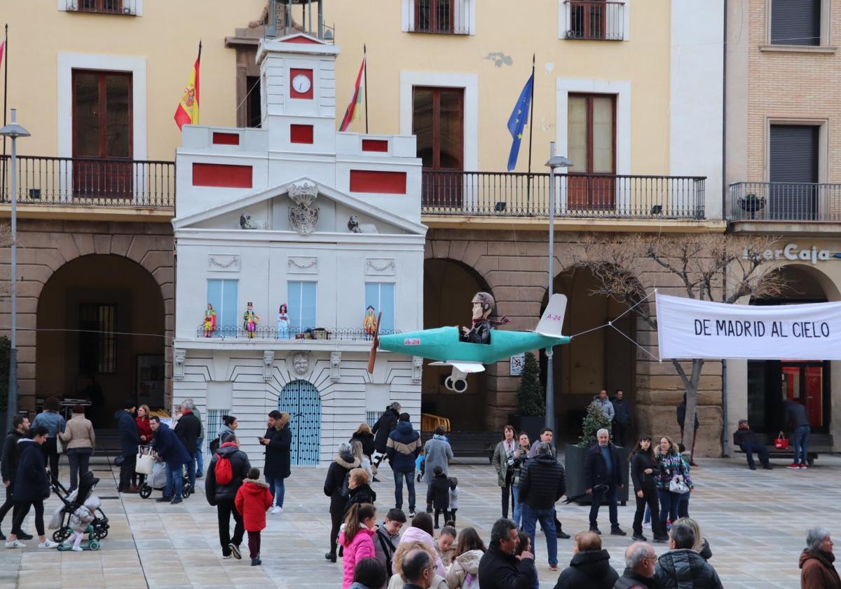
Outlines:
{"type": "MultiPolygon", "coordinates": [[[[701,459],[693,470],[696,483],[690,515],[701,523],[713,550],[711,564],[725,587],[799,587],[798,555],[806,530],[822,525],[841,536],[838,487],[841,457],[822,456],[806,471],[781,468],[747,470],[744,459],[701,459]]],[[[102,479],[98,495],[112,523],[102,549],[83,553],[43,550],[29,542],[26,549],[0,548],[0,587],[52,589],[54,587],[330,587],[341,586],[341,560],[324,558],[330,517],[321,491],[325,469],[296,468],[287,480],[285,511],[268,516],[263,531],[263,565],[243,560],[222,560],[214,507],[204,501],[203,488],[181,505],[139,496],[118,496],[114,474],[107,464],[94,464],[102,479]]],[[[62,475],[66,466],[62,464],[62,475]]],[[[454,464],[451,474],[461,486],[458,527],[473,526],[487,541],[490,526],[500,516],[500,491],[489,464],[454,464]]],[[[391,473],[381,471],[375,484],[380,516],[394,505],[391,473]]],[[[201,481],[199,481],[201,482],[201,481]]],[[[199,487],[203,487],[201,484],[199,487]]],[[[421,497],[421,483],[418,496],[421,497]]],[[[405,493],[405,490],[404,490],[405,493]]],[[[47,503],[46,514],[58,505],[47,503]]],[[[419,501],[422,506],[422,500],[419,501]]],[[[563,529],[575,533],[587,528],[588,507],[558,507],[563,529]]],[[[602,530],[610,528],[606,508],[602,530]]],[[[606,535],[611,564],[621,572],[622,557],[631,543],[633,507],[619,508],[627,538],[606,535]]],[[[5,531],[8,532],[6,523],[5,531]]],[[[29,532],[33,523],[29,519],[29,532]]],[[[650,535],[650,534],[649,534],[650,535]]],[[[655,544],[658,553],[662,544],[655,544]]],[[[558,541],[560,568],[571,558],[571,540],[558,541]]],[[[246,543],[243,543],[247,557],[246,543]]],[[[537,568],[541,587],[553,587],[558,573],[549,570],[545,542],[538,532],[537,568]]]]}

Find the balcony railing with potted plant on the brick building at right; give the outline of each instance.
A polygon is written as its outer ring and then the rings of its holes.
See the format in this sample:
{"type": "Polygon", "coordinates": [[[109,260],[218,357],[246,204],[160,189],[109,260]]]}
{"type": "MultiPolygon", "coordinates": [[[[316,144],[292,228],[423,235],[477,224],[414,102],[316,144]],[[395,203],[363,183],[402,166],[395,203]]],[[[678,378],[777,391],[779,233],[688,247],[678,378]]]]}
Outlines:
{"type": "Polygon", "coordinates": [[[727,220],[841,222],[841,184],[738,182],[727,193],[727,220]]]}

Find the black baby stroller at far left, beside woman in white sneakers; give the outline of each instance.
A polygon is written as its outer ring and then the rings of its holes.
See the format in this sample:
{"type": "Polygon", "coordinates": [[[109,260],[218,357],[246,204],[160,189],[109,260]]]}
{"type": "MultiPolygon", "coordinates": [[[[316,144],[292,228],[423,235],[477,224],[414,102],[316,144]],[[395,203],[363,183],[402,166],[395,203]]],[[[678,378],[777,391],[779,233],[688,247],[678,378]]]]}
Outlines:
{"type": "MultiPolygon", "coordinates": [[[[50,528],[56,528],[53,533],[53,540],[56,542],[64,542],[70,538],[73,528],[78,527],[78,516],[81,512],[87,512],[88,517],[85,518],[87,525],[84,526],[84,533],[87,533],[87,541],[84,543],[83,549],[98,550],[99,540],[108,536],[108,517],[105,516],[102,509],[99,507],[99,499],[93,496],[93,489],[97,486],[99,479],[93,476],[93,472],[88,470],[79,479],[79,486],[75,491],[68,493],[66,488],[61,483],[52,478],[50,475],[53,492],[61,499],[61,506],[53,513],[52,520],[50,520],[50,528]],[[80,510],[82,510],[80,512],[80,510]],[[71,521],[74,517],[76,521],[71,521]]],[[[59,546],[60,550],[71,549],[70,545],[59,546]],[[63,547],[62,547],[63,546],[63,547]]]]}

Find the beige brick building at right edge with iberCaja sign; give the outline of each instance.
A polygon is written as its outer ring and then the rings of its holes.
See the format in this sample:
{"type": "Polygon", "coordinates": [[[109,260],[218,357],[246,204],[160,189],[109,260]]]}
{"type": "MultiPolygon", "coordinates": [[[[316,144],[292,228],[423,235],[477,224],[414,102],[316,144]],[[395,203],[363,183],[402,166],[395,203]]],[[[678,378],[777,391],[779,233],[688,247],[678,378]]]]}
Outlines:
{"type": "MultiPolygon", "coordinates": [[[[838,3],[727,3],[725,217],[729,231],[780,237],[770,254],[790,284],[745,304],[841,300],[839,40],[838,3]]],[[[812,444],[837,448],[839,385],[837,361],[730,360],[727,431],[748,418],[775,434],[787,398],[807,407],[812,444]]]]}

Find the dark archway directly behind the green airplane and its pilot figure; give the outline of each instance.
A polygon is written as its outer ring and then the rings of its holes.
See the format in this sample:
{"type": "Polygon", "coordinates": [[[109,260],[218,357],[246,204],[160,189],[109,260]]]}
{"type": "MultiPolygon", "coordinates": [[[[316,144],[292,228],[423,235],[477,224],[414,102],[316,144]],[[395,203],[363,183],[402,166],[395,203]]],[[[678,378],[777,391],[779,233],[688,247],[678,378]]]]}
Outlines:
{"type": "MultiPolygon", "coordinates": [[[[423,284],[424,329],[469,326],[473,294],[491,292],[473,268],[449,258],[427,259],[423,284]]],[[[444,386],[444,379],[451,373],[447,367],[424,363],[421,411],[447,417],[453,430],[484,429],[488,410],[486,373],[469,374],[464,393],[454,393],[444,386]]]]}

